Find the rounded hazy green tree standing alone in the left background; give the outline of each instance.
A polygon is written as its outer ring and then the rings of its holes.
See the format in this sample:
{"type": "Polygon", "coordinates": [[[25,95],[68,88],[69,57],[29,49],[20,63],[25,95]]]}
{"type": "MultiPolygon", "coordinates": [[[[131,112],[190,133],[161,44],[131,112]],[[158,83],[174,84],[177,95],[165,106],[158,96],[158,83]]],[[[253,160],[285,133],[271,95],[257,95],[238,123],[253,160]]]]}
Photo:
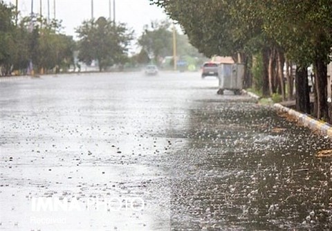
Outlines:
{"type": "Polygon", "coordinates": [[[114,24],[113,21],[100,17],[96,21],[84,21],[76,32],[80,38],[80,61],[91,64],[93,60],[97,60],[100,71],[107,66],[126,62],[133,31],[125,24],[114,24]]]}

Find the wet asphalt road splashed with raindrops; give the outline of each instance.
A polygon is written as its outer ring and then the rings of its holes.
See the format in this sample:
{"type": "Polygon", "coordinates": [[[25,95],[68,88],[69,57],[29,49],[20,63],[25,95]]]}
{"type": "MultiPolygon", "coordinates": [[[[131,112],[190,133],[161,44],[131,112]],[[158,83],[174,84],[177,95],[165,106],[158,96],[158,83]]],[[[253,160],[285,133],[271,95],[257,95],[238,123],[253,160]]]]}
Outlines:
{"type": "Polygon", "coordinates": [[[0,230],[332,230],[331,140],[217,84],[0,80],[0,230]]]}

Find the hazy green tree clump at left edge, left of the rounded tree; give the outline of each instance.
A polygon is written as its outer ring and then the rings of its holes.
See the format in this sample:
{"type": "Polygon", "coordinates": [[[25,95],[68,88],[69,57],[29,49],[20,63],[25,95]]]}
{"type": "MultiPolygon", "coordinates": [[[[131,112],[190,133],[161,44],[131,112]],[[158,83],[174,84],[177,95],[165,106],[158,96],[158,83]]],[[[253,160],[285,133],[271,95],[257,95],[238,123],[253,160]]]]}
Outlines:
{"type": "Polygon", "coordinates": [[[12,71],[53,70],[59,72],[73,63],[73,37],[59,33],[61,24],[30,15],[17,21],[13,6],[0,1],[0,69],[1,75],[12,71]]]}

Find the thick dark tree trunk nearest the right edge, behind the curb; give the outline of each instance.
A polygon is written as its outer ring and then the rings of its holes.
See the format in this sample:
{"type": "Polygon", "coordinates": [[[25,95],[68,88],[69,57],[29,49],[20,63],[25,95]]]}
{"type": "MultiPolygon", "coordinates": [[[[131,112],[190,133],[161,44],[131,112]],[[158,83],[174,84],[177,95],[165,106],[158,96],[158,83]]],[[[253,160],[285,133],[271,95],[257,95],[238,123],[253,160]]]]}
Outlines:
{"type": "Polygon", "coordinates": [[[317,118],[329,121],[327,105],[327,66],[324,60],[315,60],[315,91],[317,94],[317,118]]]}

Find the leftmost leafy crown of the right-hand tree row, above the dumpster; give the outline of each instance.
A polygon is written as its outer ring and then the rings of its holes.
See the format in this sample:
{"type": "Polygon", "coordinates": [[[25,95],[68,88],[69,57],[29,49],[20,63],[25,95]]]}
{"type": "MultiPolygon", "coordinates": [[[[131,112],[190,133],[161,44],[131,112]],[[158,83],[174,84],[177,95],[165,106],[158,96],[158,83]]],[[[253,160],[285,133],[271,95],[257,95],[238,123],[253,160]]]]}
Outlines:
{"type": "MultiPolygon", "coordinates": [[[[239,1],[225,0],[150,0],[181,24],[190,44],[207,57],[232,56],[236,62],[248,62],[252,52],[252,40],[261,31],[259,20],[254,24],[242,24],[243,13],[237,12],[239,1]],[[241,16],[241,17],[240,17],[241,16]],[[251,42],[251,43],[250,43],[251,42]]],[[[250,77],[250,75],[246,75],[250,77]]],[[[246,83],[250,79],[246,79],[246,83]]]]}

